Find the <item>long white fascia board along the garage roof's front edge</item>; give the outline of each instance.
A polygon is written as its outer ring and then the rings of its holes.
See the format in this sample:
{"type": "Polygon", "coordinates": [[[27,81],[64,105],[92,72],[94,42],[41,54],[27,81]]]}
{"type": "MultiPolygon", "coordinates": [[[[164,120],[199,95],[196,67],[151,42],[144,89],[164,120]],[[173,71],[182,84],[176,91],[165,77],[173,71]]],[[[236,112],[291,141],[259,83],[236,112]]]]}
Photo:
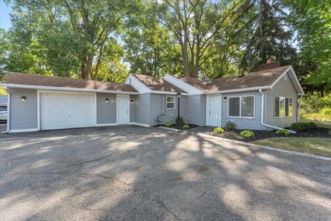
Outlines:
{"type": "Polygon", "coordinates": [[[128,92],[128,91],[118,91],[118,90],[100,90],[100,89],[87,89],[87,88],[61,88],[61,87],[52,87],[52,86],[34,86],[34,85],[24,85],[24,84],[0,84],[0,85],[7,87],[7,88],[26,88],[26,89],[37,89],[37,90],[61,90],[61,91],[139,95],[138,92],[128,92]]]}

